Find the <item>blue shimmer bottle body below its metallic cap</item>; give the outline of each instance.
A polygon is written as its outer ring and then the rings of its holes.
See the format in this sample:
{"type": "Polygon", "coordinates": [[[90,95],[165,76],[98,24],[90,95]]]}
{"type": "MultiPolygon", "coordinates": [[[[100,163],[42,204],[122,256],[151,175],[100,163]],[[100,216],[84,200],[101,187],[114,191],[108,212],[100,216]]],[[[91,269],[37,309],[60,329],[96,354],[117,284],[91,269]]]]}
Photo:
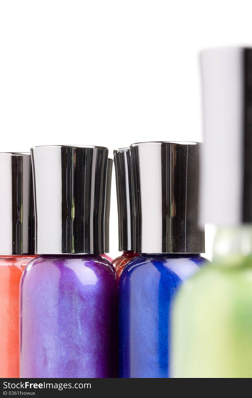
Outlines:
{"type": "Polygon", "coordinates": [[[205,261],[199,254],[141,254],[119,281],[119,377],[169,377],[170,305],[205,261]]]}

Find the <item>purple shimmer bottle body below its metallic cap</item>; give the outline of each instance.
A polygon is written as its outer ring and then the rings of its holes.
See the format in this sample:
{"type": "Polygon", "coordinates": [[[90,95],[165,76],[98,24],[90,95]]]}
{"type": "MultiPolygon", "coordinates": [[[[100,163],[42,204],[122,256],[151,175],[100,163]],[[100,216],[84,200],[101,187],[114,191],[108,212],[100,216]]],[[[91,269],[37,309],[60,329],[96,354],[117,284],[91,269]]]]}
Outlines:
{"type": "Polygon", "coordinates": [[[21,281],[21,377],[117,377],[116,313],[117,276],[101,256],[31,261],[21,281]]]}

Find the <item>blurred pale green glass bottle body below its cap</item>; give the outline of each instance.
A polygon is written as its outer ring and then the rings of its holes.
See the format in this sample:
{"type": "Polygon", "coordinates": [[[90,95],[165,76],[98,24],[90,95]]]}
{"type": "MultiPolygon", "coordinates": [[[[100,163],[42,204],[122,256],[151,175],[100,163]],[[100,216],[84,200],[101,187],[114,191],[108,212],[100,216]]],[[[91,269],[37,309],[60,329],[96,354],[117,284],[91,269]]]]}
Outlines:
{"type": "Polygon", "coordinates": [[[252,377],[252,229],[219,230],[213,263],[174,303],[172,376],[252,377]]]}

